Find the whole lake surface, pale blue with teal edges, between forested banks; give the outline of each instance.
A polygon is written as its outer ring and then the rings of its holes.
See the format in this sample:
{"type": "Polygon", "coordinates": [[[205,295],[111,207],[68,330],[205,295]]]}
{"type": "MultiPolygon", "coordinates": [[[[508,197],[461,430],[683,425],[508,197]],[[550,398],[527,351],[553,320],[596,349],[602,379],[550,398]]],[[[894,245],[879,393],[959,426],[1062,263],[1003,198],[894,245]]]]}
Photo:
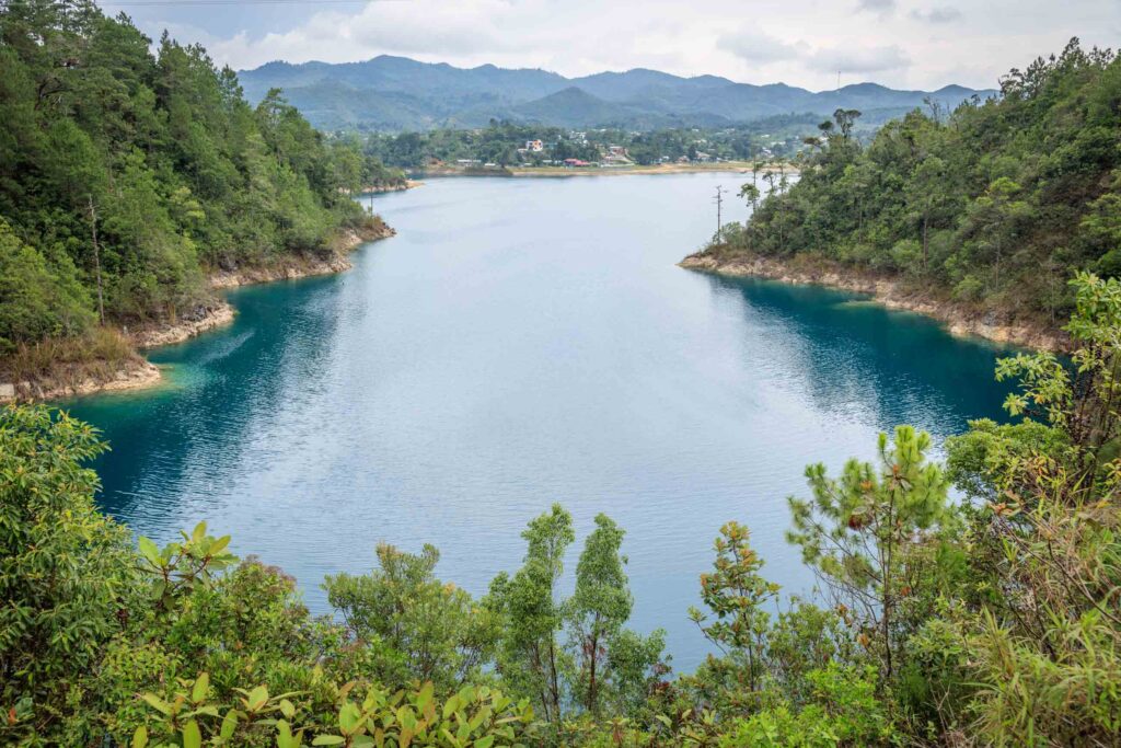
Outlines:
{"type": "Polygon", "coordinates": [[[628,530],[633,625],[666,628],[691,668],[705,648],[686,609],[724,521],[807,591],[782,539],[806,463],[870,458],[898,423],[941,442],[1002,399],[999,351],[923,317],[675,267],[739,178],[378,197],[399,234],[353,271],[240,289],[232,326],[155,352],[166,387],[73,404],[112,444],[102,506],[159,539],[207,519],[318,610],[323,575],[369,569],[379,541],[434,543],[442,576],[479,593],[552,502],[581,538],[605,511],[628,530]]]}

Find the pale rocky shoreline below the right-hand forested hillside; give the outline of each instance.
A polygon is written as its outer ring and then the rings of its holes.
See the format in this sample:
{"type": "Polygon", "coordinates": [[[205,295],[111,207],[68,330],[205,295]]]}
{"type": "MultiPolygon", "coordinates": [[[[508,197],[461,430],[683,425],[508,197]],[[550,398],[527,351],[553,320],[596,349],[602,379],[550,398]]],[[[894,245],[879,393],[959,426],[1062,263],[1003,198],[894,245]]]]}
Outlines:
{"type": "Polygon", "coordinates": [[[815,260],[784,262],[768,257],[744,256],[717,258],[706,252],[697,252],[686,257],[678,262],[678,266],[716,275],[813,284],[868,294],[888,308],[916,312],[933,317],[942,322],[954,335],[984,338],[998,343],[1037,350],[1056,352],[1071,350],[1071,339],[1060,330],[937,297],[929,289],[840,264],[815,260]]]}

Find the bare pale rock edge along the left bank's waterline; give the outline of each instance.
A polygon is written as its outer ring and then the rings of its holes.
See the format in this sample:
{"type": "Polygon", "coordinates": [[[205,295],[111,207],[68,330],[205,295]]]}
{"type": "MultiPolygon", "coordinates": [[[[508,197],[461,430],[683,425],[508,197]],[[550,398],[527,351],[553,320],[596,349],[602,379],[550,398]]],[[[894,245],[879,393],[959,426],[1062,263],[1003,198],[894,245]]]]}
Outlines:
{"type": "MultiPolygon", "coordinates": [[[[330,275],[350,270],[353,266],[346,255],[359,246],[392,237],[397,232],[389,225],[379,222],[370,230],[349,229],[340,234],[331,256],[325,258],[293,257],[268,267],[239,268],[219,270],[209,277],[214,290],[235,288],[259,283],[277,280],[294,280],[319,275],[330,275]]],[[[212,304],[202,306],[189,316],[175,322],[146,325],[132,330],[123,330],[124,338],[138,349],[155,348],[182,343],[210,330],[222,327],[233,322],[235,311],[225,299],[216,298],[212,304]]],[[[98,393],[140,389],[158,385],[161,379],[159,367],[142,357],[135,357],[111,371],[100,371],[91,368],[87,371],[75,370],[70,376],[43,381],[0,381],[0,403],[10,400],[56,400],[70,397],[81,397],[98,393]]]]}

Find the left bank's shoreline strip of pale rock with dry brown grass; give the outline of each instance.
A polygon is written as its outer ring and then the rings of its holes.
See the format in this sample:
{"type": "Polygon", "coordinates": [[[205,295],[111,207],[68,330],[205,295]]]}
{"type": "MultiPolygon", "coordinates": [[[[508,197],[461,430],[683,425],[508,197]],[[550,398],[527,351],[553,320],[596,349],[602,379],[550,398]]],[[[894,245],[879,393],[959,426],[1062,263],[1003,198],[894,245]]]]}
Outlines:
{"type": "MultiPolygon", "coordinates": [[[[371,219],[361,229],[339,232],[326,257],[288,256],[268,266],[216,270],[207,276],[213,292],[279,280],[296,280],[350,270],[350,252],[362,244],[396,234],[371,219]]],[[[159,367],[140,350],[174,345],[231,324],[237,311],[214,295],[189,317],[151,322],[135,327],[98,327],[84,338],[48,339],[17,350],[0,361],[0,405],[8,401],[57,400],[102,393],[155,387],[163,380],[159,367]]]]}

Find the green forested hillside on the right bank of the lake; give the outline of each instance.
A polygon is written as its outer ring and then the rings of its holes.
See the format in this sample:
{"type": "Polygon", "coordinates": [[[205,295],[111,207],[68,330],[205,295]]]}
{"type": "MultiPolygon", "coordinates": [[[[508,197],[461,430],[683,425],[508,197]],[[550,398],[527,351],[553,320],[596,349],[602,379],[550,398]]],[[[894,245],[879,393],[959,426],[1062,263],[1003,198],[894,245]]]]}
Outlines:
{"type": "MultiPolygon", "coordinates": [[[[1078,269],[1121,275],[1121,59],[1072,41],[1013,70],[1001,95],[914,111],[868,147],[839,111],[788,191],[707,255],[818,258],[1054,324],[1078,269]]],[[[758,188],[762,195],[754,194],[758,188]]]]}

